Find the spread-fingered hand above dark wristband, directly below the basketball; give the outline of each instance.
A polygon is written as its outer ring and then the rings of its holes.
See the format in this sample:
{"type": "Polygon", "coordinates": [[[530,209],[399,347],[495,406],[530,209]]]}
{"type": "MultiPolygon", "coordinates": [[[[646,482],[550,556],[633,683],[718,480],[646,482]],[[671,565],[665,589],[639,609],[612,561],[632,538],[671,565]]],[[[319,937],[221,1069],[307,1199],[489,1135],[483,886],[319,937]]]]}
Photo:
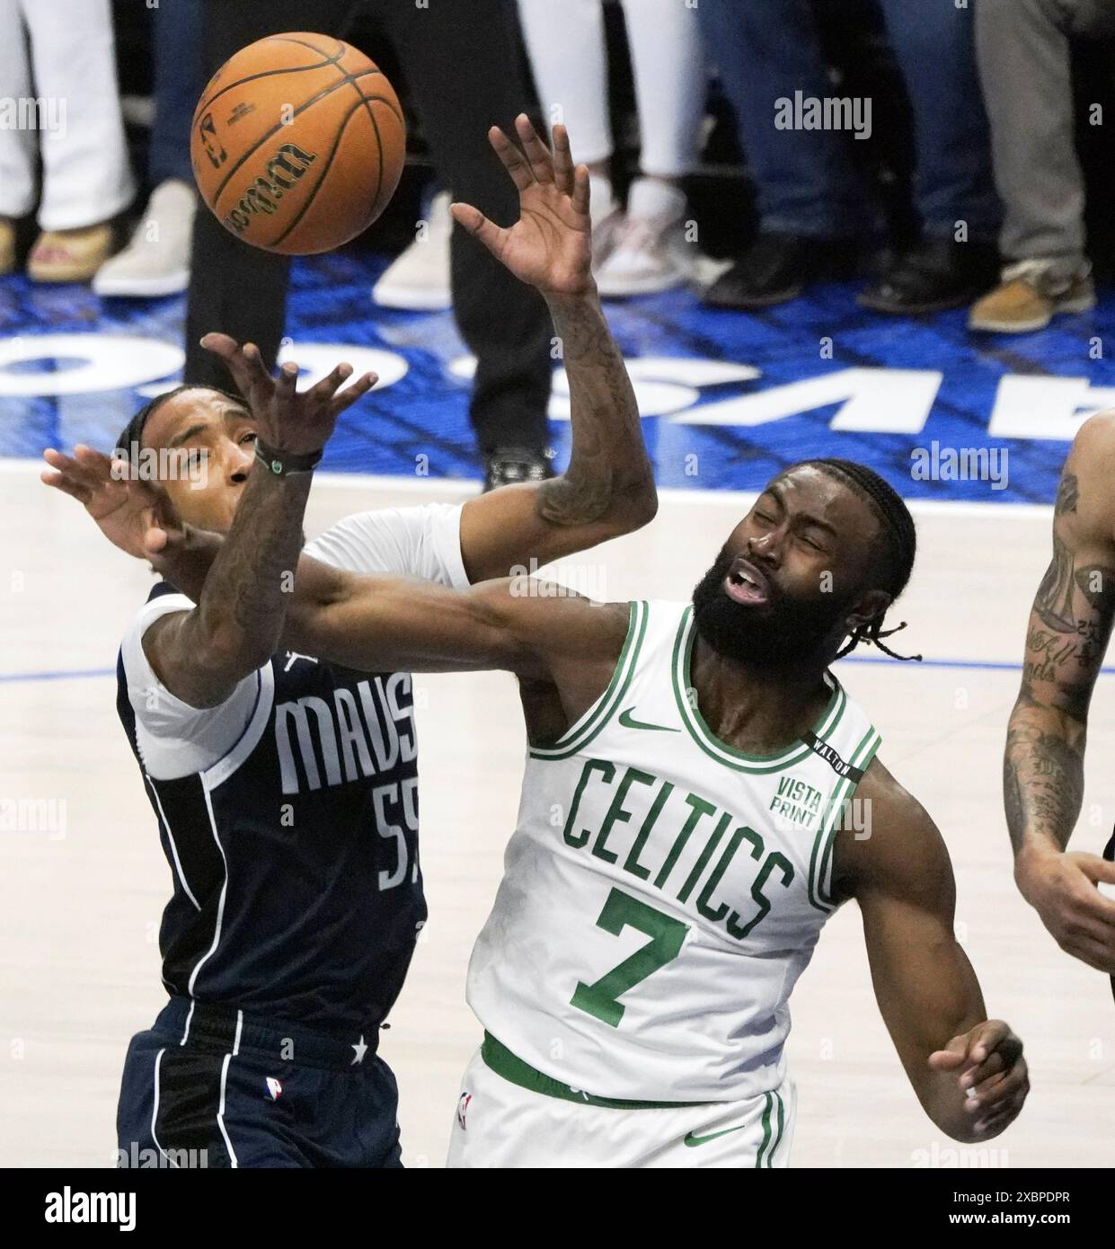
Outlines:
{"type": "Polygon", "coordinates": [[[247,400],[262,441],[292,455],[320,451],[328,442],[337,417],[380,380],[376,373],[365,373],[342,391],[341,386],[352,376],[352,365],[337,365],[316,386],[300,393],[298,366],[288,361],[276,380],[252,342],[241,346],[227,333],[207,333],[201,346],[225,361],[236,388],[247,400]]]}

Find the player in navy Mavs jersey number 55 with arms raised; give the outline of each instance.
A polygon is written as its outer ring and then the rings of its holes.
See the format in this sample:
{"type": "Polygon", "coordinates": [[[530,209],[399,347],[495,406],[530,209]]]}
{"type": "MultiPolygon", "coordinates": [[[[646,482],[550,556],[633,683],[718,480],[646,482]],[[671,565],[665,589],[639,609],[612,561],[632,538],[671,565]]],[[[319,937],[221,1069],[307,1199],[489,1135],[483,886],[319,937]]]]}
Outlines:
{"type": "MultiPolygon", "coordinates": [[[[464,587],[654,515],[634,395],[591,276],[588,172],[563,127],[552,154],[526,117],[517,129],[521,146],[497,130],[492,144],[521,220],[501,230],[467,205],[453,214],[548,302],[569,376],[569,468],[463,507],[348,517],[308,547],[326,563],[464,587]]],[[[89,448],[45,452],[44,481],[132,555],[167,513],[226,533],[196,606],[156,586],[117,666],[174,878],[160,934],[170,1002],[129,1049],[119,1145],[210,1167],[395,1167],[396,1085],[376,1043],[426,919],[411,678],[280,648],[313,467],[373,378],[340,390],[341,365],[297,395],[293,366],[275,382],[253,347],[206,345],[243,398],[179,388],[121,440],[200,457],[204,488],[99,476],[109,461],[89,448]],[[154,511],[136,522],[145,491],[154,511]]]]}

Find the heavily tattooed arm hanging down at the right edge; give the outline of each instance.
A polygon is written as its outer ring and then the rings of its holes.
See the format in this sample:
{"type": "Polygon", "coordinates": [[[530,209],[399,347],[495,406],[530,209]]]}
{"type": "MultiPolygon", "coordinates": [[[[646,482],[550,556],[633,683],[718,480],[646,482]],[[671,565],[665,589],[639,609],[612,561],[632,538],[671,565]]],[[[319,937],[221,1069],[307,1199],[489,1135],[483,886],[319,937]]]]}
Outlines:
{"type": "Polygon", "coordinates": [[[1084,794],[1088,708],[1115,621],[1115,413],[1088,421],[1058,488],[1053,560],[1030,612],[1021,688],[1003,764],[1015,881],[1068,953],[1115,973],[1115,882],[1070,853],[1084,794]]]}

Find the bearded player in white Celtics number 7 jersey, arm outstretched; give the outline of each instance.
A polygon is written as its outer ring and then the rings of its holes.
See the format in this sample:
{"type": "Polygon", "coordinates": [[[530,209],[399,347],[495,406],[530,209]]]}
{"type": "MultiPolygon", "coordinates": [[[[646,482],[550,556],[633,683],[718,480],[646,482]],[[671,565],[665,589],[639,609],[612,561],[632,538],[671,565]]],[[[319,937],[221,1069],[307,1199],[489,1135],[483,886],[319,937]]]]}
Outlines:
{"type": "MultiPolygon", "coordinates": [[[[852,898],[933,1122],[983,1142],[1018,1115],[1021,1042],[988,1020],[954,937],[944,842],[829,672],[888,636],[914,545],[882,478],[817,460],[768,485],[692,605],[594,605],[529,578],[457,593],[302,558],[288,646],[521,682],[529,752],[469,965],[484,1039],[451,1165],[787,1165],[788,1000],[852,898]]],[[[149,546],[199,592],[189,542],[155,530],[149,546]]]]}

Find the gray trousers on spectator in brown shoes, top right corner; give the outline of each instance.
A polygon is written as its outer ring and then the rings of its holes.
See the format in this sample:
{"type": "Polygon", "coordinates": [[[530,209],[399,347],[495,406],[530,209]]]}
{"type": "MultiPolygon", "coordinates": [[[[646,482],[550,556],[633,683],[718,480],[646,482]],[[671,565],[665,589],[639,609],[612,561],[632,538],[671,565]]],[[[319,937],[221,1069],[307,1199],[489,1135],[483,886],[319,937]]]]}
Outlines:
{"type": "Polygon", "coordinates": [[[1068,279],[1085,262],[1084,175],[1074,144],[1070,39],[1115,36],[1115,0],[975,0],[1008,264],[1043,260],[1068,279]]]}

